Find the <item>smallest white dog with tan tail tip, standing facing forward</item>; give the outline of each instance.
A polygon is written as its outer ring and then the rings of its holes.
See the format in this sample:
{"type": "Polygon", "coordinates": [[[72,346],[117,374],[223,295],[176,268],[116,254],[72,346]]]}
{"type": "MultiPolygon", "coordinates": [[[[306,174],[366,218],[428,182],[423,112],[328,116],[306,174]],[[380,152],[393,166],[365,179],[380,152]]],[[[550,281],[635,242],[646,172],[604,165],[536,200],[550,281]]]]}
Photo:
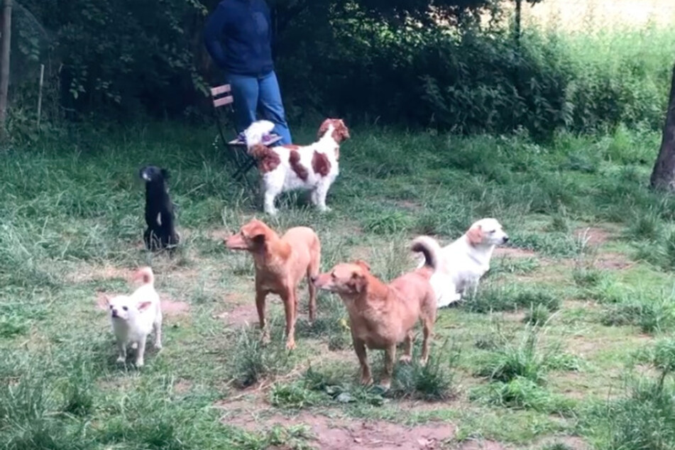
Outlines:
{"type": "Polygon", "coordinates": [[[162,348],[162,309],[160,297],[155,291],[155,275],[149,267],[141,268],[133,280],[143,280],[143,285],[131,295],[106,298],[110,321],[119,350],[118,363],[126,361],[126,347],[136,349],[136,367],[143,366],[146,339],[155,332],[155,349],[162,348]]]}

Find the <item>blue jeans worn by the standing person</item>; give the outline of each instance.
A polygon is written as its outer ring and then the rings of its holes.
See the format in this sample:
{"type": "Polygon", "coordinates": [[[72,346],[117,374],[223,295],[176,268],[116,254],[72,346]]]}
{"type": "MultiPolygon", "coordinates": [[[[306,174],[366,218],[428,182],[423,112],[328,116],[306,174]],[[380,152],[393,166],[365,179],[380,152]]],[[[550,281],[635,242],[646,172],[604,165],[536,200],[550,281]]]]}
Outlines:
{"type": "Polygon", "coordinates": [[[260,109],[262,118],[272,122],[275,125],[274,132],[281,136],[279,144],[292,143],[275,72],[260,77],[231,74],[229,84],[234,97],[234,114],[238,131],[245,130],[258,120],[256,111],[260,109]]]}

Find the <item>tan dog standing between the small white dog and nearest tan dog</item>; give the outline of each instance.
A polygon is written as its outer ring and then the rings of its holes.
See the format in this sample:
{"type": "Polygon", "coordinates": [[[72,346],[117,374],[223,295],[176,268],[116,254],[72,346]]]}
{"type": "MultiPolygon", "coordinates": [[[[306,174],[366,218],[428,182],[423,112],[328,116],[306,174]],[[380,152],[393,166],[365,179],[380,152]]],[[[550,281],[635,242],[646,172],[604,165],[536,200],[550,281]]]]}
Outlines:
{"type": "Polygon", "coordinates": [[[238,234],[225,239],[231,250],[245,250],[256,263],[256,307],[263,330],[263,340],[269,340],[265,324],[265,297],[271,292],[279,295],[286,313],[286,348],[295,349],[295,320],[297,319],[297,285],[307,275],[309,285],[309,320],[317,310],[317,290],[309,280],[319,273],[321,244],[314,231],[297,226],[282,237],[253,219],[241,227],[238,234]]]}

